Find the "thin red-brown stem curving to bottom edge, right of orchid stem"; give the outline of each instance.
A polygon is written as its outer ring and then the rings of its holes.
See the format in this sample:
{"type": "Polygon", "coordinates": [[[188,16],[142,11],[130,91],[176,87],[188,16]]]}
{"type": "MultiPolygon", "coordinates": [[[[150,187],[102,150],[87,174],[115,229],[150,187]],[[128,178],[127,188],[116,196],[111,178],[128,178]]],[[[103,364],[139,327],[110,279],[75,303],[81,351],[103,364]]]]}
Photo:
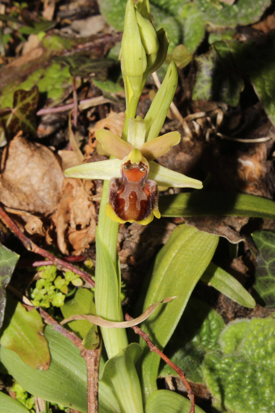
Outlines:
{"type": "MultiPolygon", "coordinates": [[[[129,316],[129,314],[125,314],[125,320],[129,321],[129,320],[133,320],[133,318],[131,316],[129,316]]],[[[168,358],[167,356],[165,356],[165,354],[162,353],[162,351],[160,351],[160,349],[158,349],[155,344],[149,339],[148,334],[146,334],[143,330],[141,330],[140,327],[138,327],[137,325],[132,327],[132,329],[134,330],[134,332],[138,335],[140,335],[143,340],[147,343],[150,351],[153,351],[154,353],[157,353],[162,360],[165,361],[165,363],[167,363],[169,366],[172,367],[172,369],[175,370],[175,372],[181,377],[181,380],[183,381],[183,384],[185,385],[186,389],[187,389],[187,396],[190,399],[190,410],[189,413],[195,413],[195,397],[194,394],[192,392],[192,389],[190,387],[190,384],[188,383],[188,380],[185,377],[185,373],[183,370],[181,370],[181,368],[179,368],[178,366],[176,366],[175,363],[173,363],[172,360],[170,360],[170,358],[168,358]]]]}

